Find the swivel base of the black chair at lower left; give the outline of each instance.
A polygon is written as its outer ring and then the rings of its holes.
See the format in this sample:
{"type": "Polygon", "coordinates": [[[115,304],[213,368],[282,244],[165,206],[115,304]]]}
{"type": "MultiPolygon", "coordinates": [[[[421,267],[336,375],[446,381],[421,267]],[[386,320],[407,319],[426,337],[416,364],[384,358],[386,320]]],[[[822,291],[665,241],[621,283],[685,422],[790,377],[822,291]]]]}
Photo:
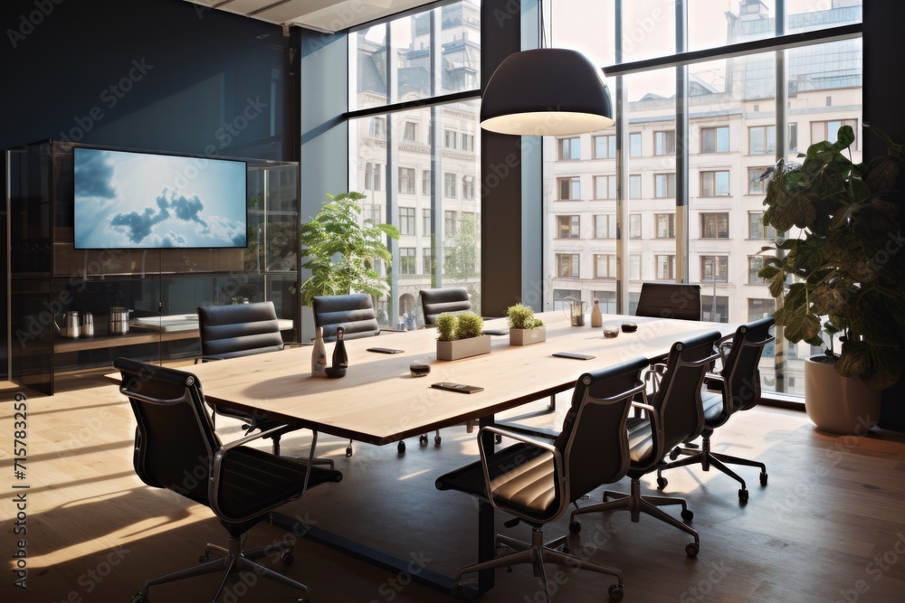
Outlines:
{"type": "Polygon", "coordinates": [[[203,576],[205,574],[210,574],[217,571],[223,571],[224,576],[223,579],[220,580],[220,584],[219,586],[217,586],[216,592],[214,592],[214,597],[211,598],[212,603],[215,603],[217,600],[219,600],[221,595],[223,595],[224,589],[226,589],[226,585],[229,582],[230,578],[238,577],[239,572],[241,571],[249,571],[254,573],[256,576],[269,578],[294,589],[299,589],[303,593],[299,600],[307,603],[310,597],[307,586],[305,586],[301,582],[289,578],[288,576],[284,576],[279,572],[273,571],[270,568],[265,568],[260,563],[253,561],[256,559],[261,559],[266,555],[271,555],[274,552],[282,551],[281,560],[284,564],[290,565],[293,561],[292,542],[278,542],[276,544],[268,544],[267,546],[251,549],[249,551],[243,551],[241,537],[231,537],[229,539],[229,544],[227,545],[227,547],[228,548],[224,549],[224,547],[217,546],[215,544],[208,544],[205,547],[204,554],[199,560],[201,561],[201,563],[193,567],[186,568],[185,570],[177,570],[164,576],[149,579],[147,582],[145,582],[145,587],[141,589],[141,591],[138,592],[135,597],[132,598],[132,603],[148,603],[148,589],[152,586],[157,586],[158,584],[166,584],[167,582],[175,582],[176,580],[186,578],[194,578],[195,576],[203,576]],[[215,551],[224,556],[210,560],[211,551],[215,551]]]}

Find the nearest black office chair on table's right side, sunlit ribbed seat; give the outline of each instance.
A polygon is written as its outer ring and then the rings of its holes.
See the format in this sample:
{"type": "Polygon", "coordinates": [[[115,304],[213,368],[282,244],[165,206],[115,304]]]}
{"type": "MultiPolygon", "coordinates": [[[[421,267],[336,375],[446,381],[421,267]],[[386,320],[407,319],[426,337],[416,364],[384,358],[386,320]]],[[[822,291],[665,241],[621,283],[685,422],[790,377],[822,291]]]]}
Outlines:
{"type": "Polygon", "coordinates": [[[525,429],[481,428],[481,460],[440,477],[437,488],[478,496],[515,515],[531,526],[531,542],[498,534],[497,546],[515,552],[462,568],[456,572],[455,589],[462,589],[464,574],[531,563],[549,601],[544,563],[559,563],[615,576],[618,581],[610,586],[610,597],[623,597],[621,571],[570,555],[565,536],[545,543],[543,526],[559,519],[578,497],[625,475],[629,467],[626,419],[634,395],[643,391],[639,373],[647,366],[648,360],[639,358],[579,377],[563,430],[555,439],[525,429]],[[487,438],[482,438],[488,432],[518,443],[494,452],[492,445],[485,446],[487,438]],[[564,550],[558,551],[563,545],[564,550]]]}

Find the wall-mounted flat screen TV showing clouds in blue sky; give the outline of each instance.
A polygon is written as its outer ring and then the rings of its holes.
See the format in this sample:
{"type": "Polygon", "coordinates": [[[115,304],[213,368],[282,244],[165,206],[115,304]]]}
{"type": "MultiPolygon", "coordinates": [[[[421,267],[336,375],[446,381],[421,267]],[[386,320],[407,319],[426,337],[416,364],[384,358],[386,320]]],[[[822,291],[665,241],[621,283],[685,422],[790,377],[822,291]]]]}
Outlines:
{"type": "Polygon", "coordinates": [[[247,246],[245,162],[73,149],[77,250],[247,246]]]}

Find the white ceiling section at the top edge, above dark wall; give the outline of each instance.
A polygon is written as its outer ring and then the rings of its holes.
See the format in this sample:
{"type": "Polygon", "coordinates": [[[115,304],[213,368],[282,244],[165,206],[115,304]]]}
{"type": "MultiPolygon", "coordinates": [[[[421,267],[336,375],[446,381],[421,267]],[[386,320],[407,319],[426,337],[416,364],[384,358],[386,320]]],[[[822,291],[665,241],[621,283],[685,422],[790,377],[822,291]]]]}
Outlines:
{"type": "Polygon", "coordinates": [[[338,32],[436,0],[186,0],[272,24],[338,32]]]}

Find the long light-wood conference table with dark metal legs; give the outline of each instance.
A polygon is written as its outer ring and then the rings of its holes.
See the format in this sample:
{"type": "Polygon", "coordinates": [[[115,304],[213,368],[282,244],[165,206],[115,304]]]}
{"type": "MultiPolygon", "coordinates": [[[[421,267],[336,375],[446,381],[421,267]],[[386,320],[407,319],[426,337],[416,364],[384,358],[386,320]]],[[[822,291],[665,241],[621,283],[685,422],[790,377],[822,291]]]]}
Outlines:
{"type": "MultiPolygon", "coordinates": [[[[310,376],[310,347],[279,353],[197,364],[190,372],[200,379],[208,402],[235,410],[259,413],[301,428],[316,429],[341,438],[384,445],[401,439],[460,425],[478,419],[481,426],[494,416],[551,394],[571,389],[584,372],[621,363],[639,356],[654,359],[668,353],[681,339],[730,325],[636,316],[604,316],[604,324],[633,322],[634,333],[605,339],[603,330],[571,326],[563,312],[539,314],[547,327],[547,341],[510,346],[508,335],[491,340],[491,353],[457,361],[438,361],[436,329],[392,332],[378,337],[346,341],[348,371],[340,379],[310,376]],[[369,347],[403,350],[386,354],[367,352],[369,347]],[[555,352],[586,353],[591,360],[558,358],[555,352]],[[428,363],[431,372],[412,377],[409,365],[428,363]],[[483,391],[462,394],[431,388],[434,382],[477,385],[483,391]]],[[[504,318],[486,320],[485,330],[506,330],[504,318]]],[[[331,352],[328,344],[328,358],[331,352]]],[[[114,377],[111,375],[111,378],[114,377]]],[[[117,376],[118,377],[118,376],[117,376]]],[[[289,517],[276,515],[292,529],[289,517]]],[[[494,555],[495,526],[490,504],[481,504],[478,517],[479,559],[494,555]]],[[[366,546],[318,529],[306,534],[318,542],[375,561],[393,571],[405,570],[406,560],[395,560],[366,546]]],[[[417,579],[450,592],[452,578],[419,572],[417,579]]],[[[477,593],[491,589],[492,570],[479,574],[477,593]]],[[[473,589],[466,596],[476,594],[473,589]]]]}

